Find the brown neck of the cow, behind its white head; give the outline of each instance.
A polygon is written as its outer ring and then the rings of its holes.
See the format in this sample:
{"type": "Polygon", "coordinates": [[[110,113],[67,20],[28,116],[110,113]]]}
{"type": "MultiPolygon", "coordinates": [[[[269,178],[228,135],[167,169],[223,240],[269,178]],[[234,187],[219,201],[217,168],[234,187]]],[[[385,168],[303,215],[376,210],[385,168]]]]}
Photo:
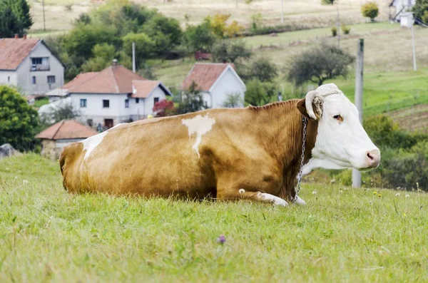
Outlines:
{"type": "MultiPolygon", "coordinates": [[[[290,187],[295,183],[295,177],[300,170],[303,123],[302,114],[296,108],[297,101],[284,101],[253,108],[257,114],[257,128],[260,130],[265,149],[282,165],[285,184],[280,195],[283,197],[290,197],[290,187]]],[[[308,120],[304,163],[311,158],[317,128],[316,121],[308,120]]]]}

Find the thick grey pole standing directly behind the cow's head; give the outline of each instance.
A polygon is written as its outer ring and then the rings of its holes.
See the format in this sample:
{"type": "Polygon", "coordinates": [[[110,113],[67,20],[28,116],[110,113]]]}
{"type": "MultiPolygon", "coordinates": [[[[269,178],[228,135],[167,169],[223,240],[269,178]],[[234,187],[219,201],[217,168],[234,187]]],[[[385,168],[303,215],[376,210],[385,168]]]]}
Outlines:
{"type": "MultiPolygon", "coordinates": [[[[355,106],[360,113],[362,123],[362,78],[364,66],[364,38],[360,38],[357,46],[357,71],[355,73],[355,106]]],[[[352,187],[361,187],[361,172],[352,169],[352,187]]]]}

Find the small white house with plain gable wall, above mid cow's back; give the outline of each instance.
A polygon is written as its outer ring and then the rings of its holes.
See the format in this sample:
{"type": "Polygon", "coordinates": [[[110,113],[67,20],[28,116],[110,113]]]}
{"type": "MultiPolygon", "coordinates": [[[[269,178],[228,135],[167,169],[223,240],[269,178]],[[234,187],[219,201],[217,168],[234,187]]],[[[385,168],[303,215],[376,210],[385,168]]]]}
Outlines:
{"type": "Polygon", "coordinates": [[[195,63],[181,84],[181,90],[188,90],[192,83],[202,91],[208,108],[223,107],[230,94],[239,93],[244,98],[246,91],[245,83],[230,63],[195,63]]]}

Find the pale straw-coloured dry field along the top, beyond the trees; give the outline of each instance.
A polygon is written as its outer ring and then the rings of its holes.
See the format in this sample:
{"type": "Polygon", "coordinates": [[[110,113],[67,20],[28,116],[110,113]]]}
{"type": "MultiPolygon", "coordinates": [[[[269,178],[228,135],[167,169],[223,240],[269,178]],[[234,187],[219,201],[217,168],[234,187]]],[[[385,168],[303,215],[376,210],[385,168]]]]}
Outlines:
{"type": "MultiPolygon", "coordinates": [[[[104,0],[44,0],[46,29],[68,30],[71,29],[73,19],[91,7],[103,4],[104,0]]],[[[248,26],[252,14],[259,13],[263,16],[266,25],[277,25],[280,22],[279,0],[255,0],[252,4],[245,4],[243,0],[133,0],[150,8],[162,11],[166,16],[173,16],[179,21],[184,16],[190,16],[190,24],[198,24],[205,16],[217,13],[232,14],[230,20],[239,21],[248,26]],[[238,5],[237,5],[238,4],[238,5]]],[[[379,21],[388,19],[390,1],[382,0],[379,3],[379,21]]],[[[362,23],[367,21],[361,15],[360,0],[339,1],[339,11],[345,24],[362,23]]],[[[31,1],[31,13],[34,15],[34,30],[43,29],[43,9],[41,0],[31,1]]],[[[336,6],[323,6],[320,0],[284,0],[285,24],[307,27],[320,27],[335,24],[336,6]]]]}

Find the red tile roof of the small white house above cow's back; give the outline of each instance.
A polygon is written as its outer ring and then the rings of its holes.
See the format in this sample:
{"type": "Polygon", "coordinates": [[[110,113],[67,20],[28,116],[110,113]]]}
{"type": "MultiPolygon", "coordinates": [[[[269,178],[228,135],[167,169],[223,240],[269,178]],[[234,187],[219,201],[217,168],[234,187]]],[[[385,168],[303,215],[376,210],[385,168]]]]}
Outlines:
{"type": "Polygon", "coordinates": [[[194,81],[200,91],[209,91],[229,65],[234,68],[233,64],[230,63],[195,63],[181,84],[181,89],[188,89],[194,81]]]}

